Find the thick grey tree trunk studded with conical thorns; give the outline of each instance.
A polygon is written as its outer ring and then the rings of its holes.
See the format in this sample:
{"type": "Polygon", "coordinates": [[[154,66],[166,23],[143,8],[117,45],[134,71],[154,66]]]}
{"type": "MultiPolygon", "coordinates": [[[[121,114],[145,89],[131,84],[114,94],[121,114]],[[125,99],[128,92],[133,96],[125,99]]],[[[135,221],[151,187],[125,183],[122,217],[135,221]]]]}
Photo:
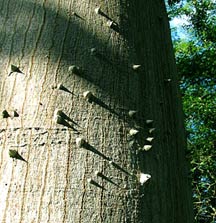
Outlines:
{"type": "Polygon", "coordinates": [[[0,222],[191,223],[164,2],[2,0],[0,15],[0,222]]]}

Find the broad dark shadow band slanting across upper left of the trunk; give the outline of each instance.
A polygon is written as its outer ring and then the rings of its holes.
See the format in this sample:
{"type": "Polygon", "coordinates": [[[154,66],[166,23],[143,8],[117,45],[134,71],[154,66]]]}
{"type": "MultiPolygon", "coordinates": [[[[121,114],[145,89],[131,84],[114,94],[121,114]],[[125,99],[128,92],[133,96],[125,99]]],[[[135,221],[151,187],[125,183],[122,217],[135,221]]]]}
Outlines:
{"type": "MultiPolygon", "coordinates": [[[[80,77],[111,95],[121,103],[119,104],[121,108],[129,110],[139,106],[137,101],[139,97],[134,97],[134,92],[129,89],[129,75],[134,76],[131,68],[134,61],[124,58],[125,55],[123,56],[118,50],[107,46],[105,40],[91,33],[90,29],[84,29],[86,20],[82,15],[71,12],[68,16],[63,9],[56,10],[55,6],[47,6],[46,3],[38,4],[30,1],[17,3],[15,0],[10,1],[7,10],[2,7],[1,12],[3,27],[5,28],[7,23],[11,24],[7,30],[6,28],[1,30],[1,54],[14,57],[21,65],[22,59],[27,55],[32,56],[32,59],[39,55],[49,56],[50,63],[56,63],[60,57],[63,70],[71,63],[78,64],[85,71],[80,77]],[[14,10],[15,7],[19,10],[14,10]],[[10,12],[13,12],[11,16],[9,16],[10,12]],[[28,18],[22,16],[26,13],[28,18]],[[5,46],[11,46],[11,49],[5,46]],[[95,56],[91,53],[94,47],[97,50],[95,56]],[[101,72],[98,72],[99,70],[101,72]]],[[[97,16],[95,19],[100,20],[97,16]]],[[[118,30],[113,28],[109,35],[113,32],[115,35],[122,35],[123,38],[128,36],[124,33],[128,32],[127,30],[121,30],[120,34],[116,31],[118,30]]],[[[62,74],[65,71],[58,73],[62,74]]],[[[140,79],[140,77],[136,78],[140,79]]],[[[108,109],[102,101],[99,103],[108,109]]]]}

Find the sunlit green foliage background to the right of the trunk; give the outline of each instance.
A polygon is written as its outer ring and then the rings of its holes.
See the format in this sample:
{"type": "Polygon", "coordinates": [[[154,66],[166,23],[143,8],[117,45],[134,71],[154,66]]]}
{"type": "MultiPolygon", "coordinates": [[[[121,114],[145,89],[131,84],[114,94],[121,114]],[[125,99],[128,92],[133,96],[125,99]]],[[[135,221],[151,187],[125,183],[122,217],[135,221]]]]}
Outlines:
{"type": "Polygon", "coordinates": [[[175,4],[171,18],[184,17],[187,38],[174,49],[188,133],[195,220],[216,222],[216,2],[175,4]]]}

